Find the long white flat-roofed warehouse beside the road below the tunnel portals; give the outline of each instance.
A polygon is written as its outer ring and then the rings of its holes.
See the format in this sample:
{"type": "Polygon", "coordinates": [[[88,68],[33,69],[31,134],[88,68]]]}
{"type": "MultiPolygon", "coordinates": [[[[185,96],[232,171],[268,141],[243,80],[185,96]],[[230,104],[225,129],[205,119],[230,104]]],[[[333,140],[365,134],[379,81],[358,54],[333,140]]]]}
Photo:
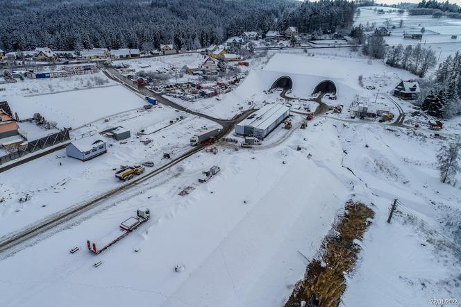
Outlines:
{"type": "Polygon", "coordinates": [[[235,126],[238,135],[265,138],[290,116],[290,108],[280,103],[267,104],[235,126]]]}

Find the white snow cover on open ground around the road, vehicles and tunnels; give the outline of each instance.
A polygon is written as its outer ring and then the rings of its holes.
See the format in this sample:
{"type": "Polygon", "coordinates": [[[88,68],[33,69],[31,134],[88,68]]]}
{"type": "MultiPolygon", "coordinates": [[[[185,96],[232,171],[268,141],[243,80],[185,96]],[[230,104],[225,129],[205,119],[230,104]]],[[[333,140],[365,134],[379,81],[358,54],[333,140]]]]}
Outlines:
{"type": "MultiPolygon", "coordinates": [[[[394,113],[387,93],[401,78],[414,77],[347,50],[277,51],[253,63],[240,86],[219,99],[172,100],[219,118],[276,101],[313,109],[312,101],[285,101],[279,90],[269,91],[281,76],[292,78],[289,97],[309,98],[329,80],[337,87],[333,104],[347,110],[361,97],[394,113]]],[[[119,165],[151,160],[158,167],[164,151],[172,150],[172,158],[187,151],[190,136],[212,124],[165,106],[143,110],[142,98],[120,85],[11,97],[19,112],[40,106],[60,125],[81,126],[73,138],[99,136],[108,153],[83,163],[57,151],[0,173],[0,237],[123,184],[113,176],[119,165]],[[81,108],[74,107],[79,99],[81,108]],[[185,119],[157,133],[135,136],[181,115],[185,119]],[[111,126],[129,128],[131,138],[116,142],[98,134],[111,126]],[[27,193],[31,200],[19,203],[27,193]]],[[[410,102],[399,103],[411,110],[410,102]]],[[[277,127],[259,147],[218,143],[217,155],[200,151],[1,254],[0,306],[283,306],[303,278],[306,258],[318,256],[349,199],[376,215],[357,266],[344,273],[342,306],[416,307],[430,299],[461,299],[461,253],[453,247],[460,244],[461,192],[459,184],[439,183],[435,157],[444,142],[459,136],[460,118],[447,121],[444,135],[434,138],[421,129],[346,117],[345,111],[315,117],[301,130],[303,115],[293,113],[293,128],[277,127]],[[221,172],[199,183],[213,165],[221,172]],[[179,195],[185,188],[189,194],[179,195]],[[387,224],[394,199],[399,206],[387,224]],[[149,222],[102,254],[86,250],[86,240],[103,238],[141,207],[151,210],[149,222]],[[69,254],[74,247],[80,250],[69,254]],[[98,261],[102,265],[94,267],[98,261]],[[175,272],[176,265],[184,272],[175,272]]]]}

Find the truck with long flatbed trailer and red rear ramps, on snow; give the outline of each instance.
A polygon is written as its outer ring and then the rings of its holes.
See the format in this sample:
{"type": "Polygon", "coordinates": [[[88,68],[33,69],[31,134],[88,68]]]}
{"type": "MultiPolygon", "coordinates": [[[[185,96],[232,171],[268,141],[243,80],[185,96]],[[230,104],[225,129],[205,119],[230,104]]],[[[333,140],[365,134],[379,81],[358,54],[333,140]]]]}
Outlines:
{"type": "Polygon", "coordinates": [[[128,219],[121,222],[119,229],[112,231],[104,238],[101,238],[98,241],[87,240],[87,248],[94,254],[100,254],[102,251],[105,251],[112,244],[115,244],[119,240],[123,239],[131,233],[131,231],[137,229],[142,223],[149,221],[150,212],[149,209],[146,210],[137,210],[137,217],[129,217],[128,219]]]}

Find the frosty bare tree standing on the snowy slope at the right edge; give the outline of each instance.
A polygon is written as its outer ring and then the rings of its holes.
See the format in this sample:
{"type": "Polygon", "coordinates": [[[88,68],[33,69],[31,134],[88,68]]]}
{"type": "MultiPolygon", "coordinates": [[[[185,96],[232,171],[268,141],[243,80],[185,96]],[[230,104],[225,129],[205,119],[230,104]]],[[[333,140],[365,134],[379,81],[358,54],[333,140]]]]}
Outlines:
{"type": "Polygon", "coordinates": [[[442,146],[439,154],[437,154],[437,168],[439,169],[440,181],[442,183],[455,184],[456,174],[461,171],[461,167],[458,164],[460,148],[461,141],[458,139],[451,144],[442,146]]]}

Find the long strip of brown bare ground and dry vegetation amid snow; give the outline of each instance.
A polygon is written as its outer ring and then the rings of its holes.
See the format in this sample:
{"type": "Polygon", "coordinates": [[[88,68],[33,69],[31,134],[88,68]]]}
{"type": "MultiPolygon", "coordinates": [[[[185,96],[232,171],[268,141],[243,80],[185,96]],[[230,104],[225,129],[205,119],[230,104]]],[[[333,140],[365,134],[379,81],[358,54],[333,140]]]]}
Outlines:
{"type": "Polygon", "coordinates": [[[296,283],[285,307],[339,306],[346,290],[344,274],[351,272],[360,251],[360,240],[374,212],[362,203],[348,202],[344,215],[337,219],[321,244],[319,256],[296,283]]]}

